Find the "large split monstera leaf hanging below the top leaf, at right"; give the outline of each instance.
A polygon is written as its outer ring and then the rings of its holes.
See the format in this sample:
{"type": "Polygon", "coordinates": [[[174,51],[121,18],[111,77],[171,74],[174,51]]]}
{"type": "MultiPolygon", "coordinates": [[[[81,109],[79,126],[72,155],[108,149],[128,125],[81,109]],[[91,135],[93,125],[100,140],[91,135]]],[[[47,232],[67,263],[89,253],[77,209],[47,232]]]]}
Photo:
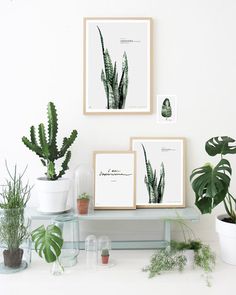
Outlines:
{"type": "Polygon", "coordinates": [[[193,170],[190,181],[196,196],[195,205],[202,214],[211,213],[224,200],[231,173],[230,163],[226,159],[221,159],[215,167],[206,164],[193,170]]]}

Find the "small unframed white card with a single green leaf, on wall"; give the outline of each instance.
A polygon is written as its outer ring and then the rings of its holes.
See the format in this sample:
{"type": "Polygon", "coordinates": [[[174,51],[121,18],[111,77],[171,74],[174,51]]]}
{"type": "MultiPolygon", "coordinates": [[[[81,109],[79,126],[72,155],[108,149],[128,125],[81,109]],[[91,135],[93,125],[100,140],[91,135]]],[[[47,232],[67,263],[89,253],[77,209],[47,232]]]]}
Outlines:
{"type": "Polygon", "coordinates": [[[176,123],[177,122],[177,96],[158,95],[157,96],[157,122],[176,123]]]}

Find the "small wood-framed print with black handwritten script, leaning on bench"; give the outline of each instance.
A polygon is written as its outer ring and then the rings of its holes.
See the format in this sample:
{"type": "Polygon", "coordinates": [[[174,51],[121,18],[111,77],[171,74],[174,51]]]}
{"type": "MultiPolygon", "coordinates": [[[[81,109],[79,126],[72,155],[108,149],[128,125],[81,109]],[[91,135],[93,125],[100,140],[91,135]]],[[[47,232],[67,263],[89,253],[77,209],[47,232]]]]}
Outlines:
{"type": "Polygon", "coordinates": [[[94,152],[95,209],[135,209],[135,153],[94,152]]]}

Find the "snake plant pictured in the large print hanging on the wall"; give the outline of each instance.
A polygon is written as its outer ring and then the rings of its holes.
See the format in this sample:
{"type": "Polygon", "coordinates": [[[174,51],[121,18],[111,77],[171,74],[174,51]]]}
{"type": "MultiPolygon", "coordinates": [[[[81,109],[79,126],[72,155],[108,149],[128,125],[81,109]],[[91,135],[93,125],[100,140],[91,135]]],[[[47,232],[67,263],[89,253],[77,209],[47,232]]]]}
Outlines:
{"type": "Polygon", "coordinates": [[[124,109],[125,102],[128,92],[128,58],[126,52],[123,54],[122,61],[122,74],[120,81],[118,82],[118,73],[116,62],[114,66],[111,61],[110,54],[108,49],[104,47],[104,40],[102,36],[102,32],[99,27],[97,27],[101,46],[102,46],[102,55],[103,55],[103,63],[104,70],[101,72],[101,80],[103,82],[103,86],[106,93],[107,98],[107,109],[124,109]]]}

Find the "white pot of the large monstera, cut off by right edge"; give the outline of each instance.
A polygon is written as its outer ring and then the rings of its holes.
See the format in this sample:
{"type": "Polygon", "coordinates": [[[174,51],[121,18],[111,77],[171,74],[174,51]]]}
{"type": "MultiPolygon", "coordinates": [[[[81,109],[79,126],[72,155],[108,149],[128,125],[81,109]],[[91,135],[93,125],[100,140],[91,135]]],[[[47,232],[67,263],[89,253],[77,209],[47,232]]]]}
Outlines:
{"type": "Polygon", "coordinates": [[[236,265],[236,224],[222,221],[227,215],[216,218],[216,232],[219,235],[221,258],[224,262],[236,265]]]}

